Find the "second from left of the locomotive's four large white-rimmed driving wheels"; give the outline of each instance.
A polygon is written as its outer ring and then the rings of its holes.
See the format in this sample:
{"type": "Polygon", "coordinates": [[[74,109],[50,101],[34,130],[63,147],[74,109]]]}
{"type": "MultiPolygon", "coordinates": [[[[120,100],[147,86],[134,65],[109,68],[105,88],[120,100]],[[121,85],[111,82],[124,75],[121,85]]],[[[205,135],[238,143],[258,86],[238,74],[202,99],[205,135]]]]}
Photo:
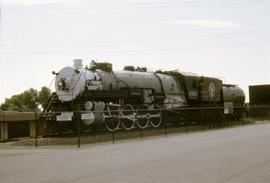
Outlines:
{"type": "Polygon", "coordinates": [[[134,108],[127,104],[123,107],[121,111],[121,126],[125,130],[131,130],[135,128],[135,111],[134,108]]]}

